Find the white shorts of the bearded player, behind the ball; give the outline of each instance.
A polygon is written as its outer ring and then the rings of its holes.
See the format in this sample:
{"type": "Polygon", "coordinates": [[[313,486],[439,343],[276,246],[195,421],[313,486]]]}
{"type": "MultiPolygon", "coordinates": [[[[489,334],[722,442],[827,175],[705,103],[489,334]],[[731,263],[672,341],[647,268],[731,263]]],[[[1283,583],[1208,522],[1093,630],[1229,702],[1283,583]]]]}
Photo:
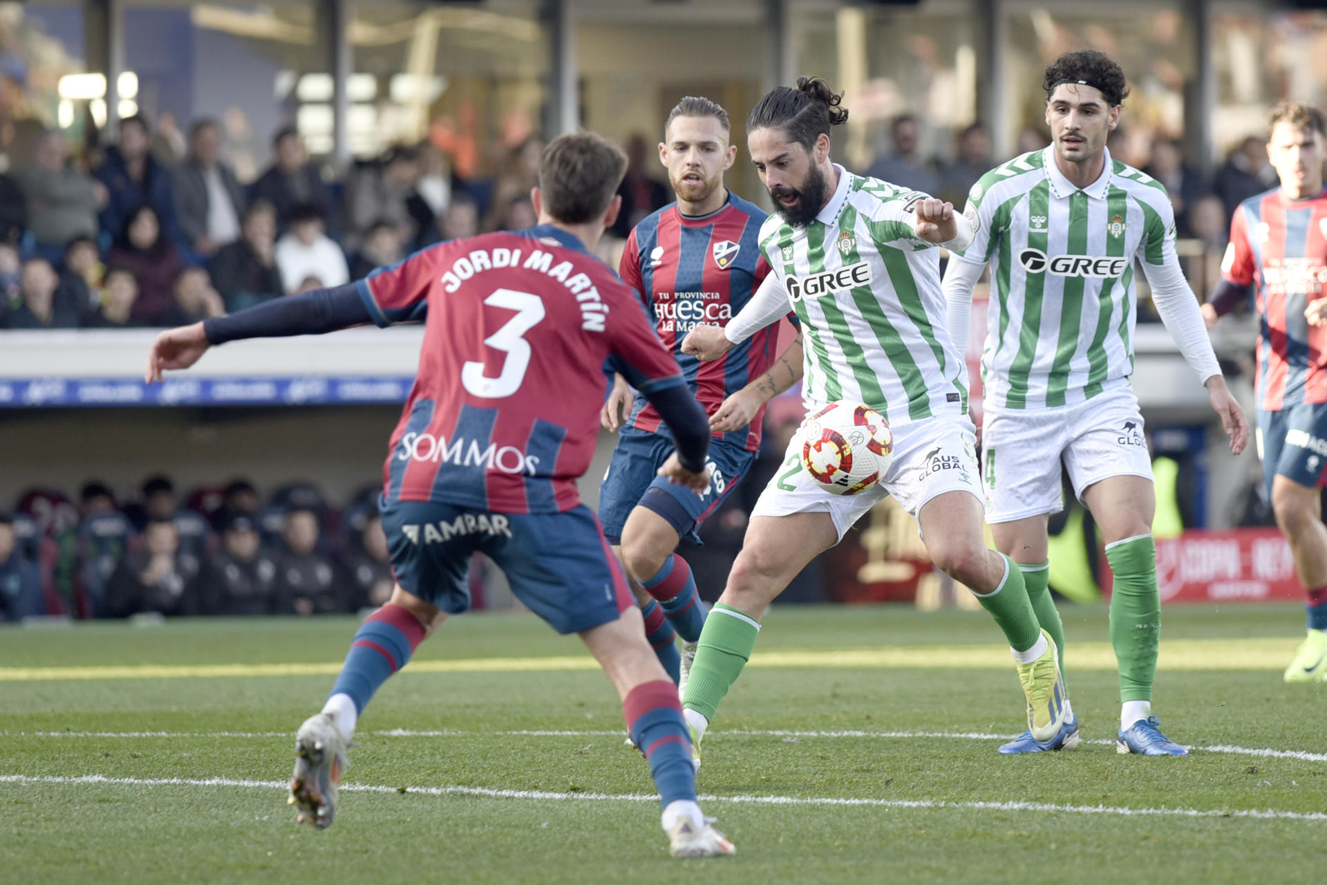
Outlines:
{"type": "Polygon", "coordinates": [[[859,495],[828,492],[802,467],[802,433],[796,433],[783,454],[783,464],[760,492],[751,516],[791,516],[829,513],[839,540],[861,515],[893,495],[914,519],[937,495],[963,491],[981,500],[977,472],[977,434],[967,415],[924,418],[894,434],[894,458],[878,486],[859,495]]]}

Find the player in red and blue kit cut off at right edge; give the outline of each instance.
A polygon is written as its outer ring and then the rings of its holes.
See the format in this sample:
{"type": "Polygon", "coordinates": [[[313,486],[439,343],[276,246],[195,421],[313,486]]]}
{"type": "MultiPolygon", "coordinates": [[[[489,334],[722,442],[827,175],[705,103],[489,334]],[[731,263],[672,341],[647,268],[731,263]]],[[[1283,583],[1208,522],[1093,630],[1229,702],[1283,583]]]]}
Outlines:
{"type": "Polygon", "coordinates": [[[1208,325],[1257,293],[1258,454],[1277,524],[1304,588],[1308,636],[1286,682],[1327,681],[1327,125],[1310,105],[1271,113],[1267,157],[1281,187],[1253,196],[1230,220],[1221,283],[1204,305],[1208,325]]]}

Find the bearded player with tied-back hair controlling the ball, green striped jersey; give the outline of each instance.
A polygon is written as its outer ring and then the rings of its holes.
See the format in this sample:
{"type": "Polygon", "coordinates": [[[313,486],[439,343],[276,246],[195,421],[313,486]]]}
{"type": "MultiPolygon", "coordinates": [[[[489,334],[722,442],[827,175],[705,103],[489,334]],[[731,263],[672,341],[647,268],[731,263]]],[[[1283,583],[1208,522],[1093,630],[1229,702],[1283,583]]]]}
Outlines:
{"type": "Polygon", "coordinates": [[[1050,739],[1064,718],[1055,644],[1022,572],[986,549],[965,369],[942,325],[936,247],[962,248],[971,224],[949,203],[831,162],[831,126],[847,118],[840,96],[807,77],[751,111],[747,147],[778,208],[760,230],[772,271],[726,328],[697,326],[682,350],[715,360],[791,308],[804,330],[807,406],[876,409],[893,431],[893,460],[878,486],[833,495],[802,468],[794,437],[701,632],[682,699],[693,746],[750,658],[766,606],[886,494],[917,517],[936,565],[973,588],[1003,630],[1030,731],[1050,739]]]}

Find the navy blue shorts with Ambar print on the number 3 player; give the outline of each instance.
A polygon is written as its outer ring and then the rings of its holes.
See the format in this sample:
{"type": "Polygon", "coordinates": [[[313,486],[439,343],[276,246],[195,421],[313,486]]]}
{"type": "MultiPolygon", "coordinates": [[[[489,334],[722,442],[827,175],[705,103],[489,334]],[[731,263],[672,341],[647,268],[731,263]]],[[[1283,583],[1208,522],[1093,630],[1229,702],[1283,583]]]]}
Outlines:
{"type": "Polygon", "coordinates": [[[470,557],[484,553],[511,590],[559,633],[588,630],[636,604],[593,511],[491,513],[455,504],[382,504],[391,571],[443,612],[470,609],[470,557]]]}

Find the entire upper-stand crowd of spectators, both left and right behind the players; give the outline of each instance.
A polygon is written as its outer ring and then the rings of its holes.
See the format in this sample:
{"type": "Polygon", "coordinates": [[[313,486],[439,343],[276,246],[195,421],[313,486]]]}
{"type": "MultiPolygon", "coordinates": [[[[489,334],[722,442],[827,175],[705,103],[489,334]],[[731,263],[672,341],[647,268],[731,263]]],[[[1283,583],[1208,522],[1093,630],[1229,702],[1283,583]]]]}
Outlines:
{"type": "MultiPolygon", "coordinates": [[[[912,114],[892,119],[886,133],[863,171],[955,206],[1007,159],[993,154],[981,123],[955,134],[949,159],[922,151],[924,123],[912,114]]],[[[462,180],[426,141],[328,182],[287,127],[272,139],[271,167],[244,183],[223,157],[218,121],[195,122],[187,146],[169,135],[129,117],[115,143],[73,158],[65,135],[46,131],[21,165],[0,174],[0,329],[175,325],[361,279],[439,241],[536,223],[529,188],[537,137],[500,149],[491,178],[462,180]],[[163,150],[166,141],[180,146],[163,150]]],[[[1027,130],[1018,143],[1036,150],[1046,138],[1027,130]]],[[[1137,145],[1120,130],[1109,142],[1117,159],[1166,186],[1180,236],[1209,256],[1225,248],[1239,202],[1277,184],[1258,137],[1242,141],[1212,176],[1177,141],[1137,145]]],[[[598,249],[613,264],[630,227],[671,199],[652,139],[637,134],[625,146],[622,211],[598,249]]]]}

